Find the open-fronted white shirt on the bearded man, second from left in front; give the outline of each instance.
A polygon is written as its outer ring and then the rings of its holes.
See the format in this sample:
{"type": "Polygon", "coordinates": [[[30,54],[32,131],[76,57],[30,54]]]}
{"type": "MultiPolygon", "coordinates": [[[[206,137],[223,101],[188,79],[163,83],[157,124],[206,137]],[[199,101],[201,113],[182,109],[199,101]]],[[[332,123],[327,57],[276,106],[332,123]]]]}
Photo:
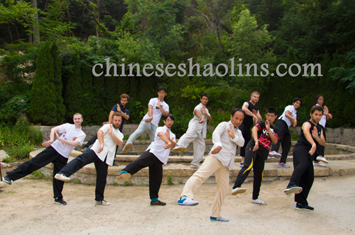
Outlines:
{"type": "MultiPolygon", "coordinates": [[[[111,135],[109,134],[109,127],[110,126],[111,126],[111,124],[105,124],[100,128],[100,130],[102,130],[102,132],[104,132],[104,149],[102,149],[102,151],[97,153],[97,151],[99,150],[99,147],[100,147],[99,139],[97,139],[94,142],[91,149],[92,149],[92,151],[95,152],[97,157],[99,157],[99,159],[101,159],[101,161],[104,161],[107,156],[106,163],[109,166],[112,166],[112,164],[114,164],[114,157],[116,155],[116,145],[117,144],[114,142],[114,139],[112,139],[111,135]]],[[[122,141],[122,139],[124,139],[124,134],[122,134],[119,131],[119,129],[115,129],[112,126],[111,126],[111,128],[113,128],[112,132],[114,133],[114,135],[116,135],[116,137],[122,141]]]]}

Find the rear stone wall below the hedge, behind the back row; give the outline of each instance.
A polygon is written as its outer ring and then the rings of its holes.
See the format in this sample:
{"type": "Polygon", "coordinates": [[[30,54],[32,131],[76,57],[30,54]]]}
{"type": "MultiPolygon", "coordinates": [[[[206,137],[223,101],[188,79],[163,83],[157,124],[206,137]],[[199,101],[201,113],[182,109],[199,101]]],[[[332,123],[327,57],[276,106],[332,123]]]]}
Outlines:
{"type": "MultiPolygon", "coordinates": [[[[39,130],[43,132],[43,140],[49,140],[50,129],[54,126],[37,126],[39,130]]],[[[91,127],[82,127],[82,131],[87,134],[84,142],[87,142],[91,137],[93,137],[97,130],[101,126],[91,126],[91,127]]],[[[124,134],[132,134],[138,125],[125,124],[124,125],[124,134]]],[[[174,130],[174,127],[173,127],[174,130]]],[[[209,127],[209,131],[212,131],[213,127],[209,127]]],[[[173,131],[174,132],[174,131],[173,131]]],[[[290,127],[290,132],[292,135],[300,135],[301,127],[290,127]]],[[[345,144],[350,146],[355,146],[355,129],[354,128],[325,128],[327,143],[331,144],[345,144]]],[[[141,137],[144,139],[149,139],[148,133],[141,134],[141,137]]]]}

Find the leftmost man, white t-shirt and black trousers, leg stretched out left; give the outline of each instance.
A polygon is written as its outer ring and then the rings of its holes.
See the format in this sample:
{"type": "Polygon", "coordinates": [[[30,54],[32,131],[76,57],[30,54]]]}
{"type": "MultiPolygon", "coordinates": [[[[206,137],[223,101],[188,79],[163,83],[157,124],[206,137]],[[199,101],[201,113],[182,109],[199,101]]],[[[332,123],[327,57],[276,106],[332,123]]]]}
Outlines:
{"type": "MultiPolygon", "coordinates": [[[[60,169],[67,164],[67,159],[70,152],[75,145],[81,145],[85,139],[86,134],[82,132],[82,115],[75,113],[72,117],[74,125],[65,123],[63,125],[53,127],[50,130],[50,140],[42,143],[45,150],[41,151],[33,159],[24,162],[13,171],[8,171],[7,176],[4,177],[4,182],[11,185],[12,180],[18,180],[28,176],[33,171],[53,163],[53,176],[60,171],[60,169]],[[62,133],[60,137],[57,132],[62,133]],[[55,140],[56,138],[56,140],[55,140]]],[[[54,203],[60,205],[67,205],[63,200],[62,190],[64,183],[62,181],[53,179],[54,203]]]]}

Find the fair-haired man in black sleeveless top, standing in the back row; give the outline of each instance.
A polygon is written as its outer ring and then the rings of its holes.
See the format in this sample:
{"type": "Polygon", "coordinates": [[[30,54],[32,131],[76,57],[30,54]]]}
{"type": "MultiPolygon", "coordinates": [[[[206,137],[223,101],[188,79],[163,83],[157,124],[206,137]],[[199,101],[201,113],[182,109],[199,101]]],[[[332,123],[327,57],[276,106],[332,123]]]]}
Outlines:
{"type": "Polygon", "coordinates": [[[244,146],[241,147],[241,164],[240,166],[244,166],[244,158],[245,158],[245,149],[246,149],[246,144],[249,143],[251,140],[251,132],[250,128],[253,127],[253,122],[258,122],[263,120],[263,118],[260,115],[260,112],[258,108],[256,108],[256,103],[258,103],[260,97],[260,93],[258,91],[254,91],[251,93],[250,96],[250,101],[246,101],[243,104],[243,107],[241,109],[246,113],[246,116],[244,117],[243,123],[239,126],[239,130],[241,130],[241,134],[243,134],[244,137],[244,146]]]}

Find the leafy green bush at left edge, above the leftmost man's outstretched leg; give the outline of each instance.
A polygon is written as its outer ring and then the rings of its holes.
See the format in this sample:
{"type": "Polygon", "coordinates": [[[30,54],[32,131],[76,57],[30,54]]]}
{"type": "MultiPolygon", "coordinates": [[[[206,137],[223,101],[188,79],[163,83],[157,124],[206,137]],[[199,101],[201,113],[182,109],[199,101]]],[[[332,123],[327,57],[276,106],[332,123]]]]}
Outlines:
{"type": "Polygon", "coordinates": [[[0,147],[3,148],[9,158],[6,162],[16,161],[28,157],[34,146],[40,145],[43,134],[32,125],[20,120],[16,125],[0,125],[0,147]]]}

